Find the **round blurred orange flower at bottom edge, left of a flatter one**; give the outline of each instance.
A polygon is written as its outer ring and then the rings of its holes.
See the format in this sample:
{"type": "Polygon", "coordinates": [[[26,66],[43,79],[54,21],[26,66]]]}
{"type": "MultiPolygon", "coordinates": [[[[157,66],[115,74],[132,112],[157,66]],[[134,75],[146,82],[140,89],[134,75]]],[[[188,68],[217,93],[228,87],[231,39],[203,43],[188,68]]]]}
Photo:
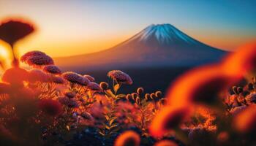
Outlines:
{"type": "Polygon", "coordinates": [[[135,131],[125,131],[116,139],[115,146],[139,146],[140,136],[135,131]]]}

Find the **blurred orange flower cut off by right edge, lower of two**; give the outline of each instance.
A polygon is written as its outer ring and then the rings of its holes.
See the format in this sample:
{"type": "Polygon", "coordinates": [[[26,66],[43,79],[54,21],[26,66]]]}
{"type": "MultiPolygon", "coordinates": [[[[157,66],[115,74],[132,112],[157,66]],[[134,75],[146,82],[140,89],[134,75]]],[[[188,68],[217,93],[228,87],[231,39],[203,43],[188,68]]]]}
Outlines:
{"type": "Polygon", "coordinates": [[[233,118],[233,124],[237,131],[249,133],[256,131],[256,105],[249,105],[233,118]]]}

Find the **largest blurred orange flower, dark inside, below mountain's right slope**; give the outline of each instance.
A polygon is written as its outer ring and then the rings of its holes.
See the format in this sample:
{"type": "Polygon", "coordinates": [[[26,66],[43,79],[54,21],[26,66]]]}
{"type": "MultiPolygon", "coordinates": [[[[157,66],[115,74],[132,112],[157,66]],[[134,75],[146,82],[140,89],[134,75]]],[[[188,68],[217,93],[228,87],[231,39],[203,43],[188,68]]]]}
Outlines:
{"type": "Polygon", "coordinates": [[[217,65],[201,66],[178,77],[167,92],[167,101],[175,106],[213,104],[218,94],[235,81],[217,65]]]}

